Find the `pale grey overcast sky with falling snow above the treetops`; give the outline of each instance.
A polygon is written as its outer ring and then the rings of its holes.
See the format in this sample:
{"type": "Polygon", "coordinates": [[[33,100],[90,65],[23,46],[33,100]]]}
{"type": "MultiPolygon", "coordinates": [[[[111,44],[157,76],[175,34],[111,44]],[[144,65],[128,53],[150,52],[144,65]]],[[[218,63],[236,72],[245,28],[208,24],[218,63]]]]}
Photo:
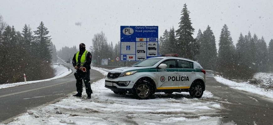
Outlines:
{"type": "Polygon", "coordinates": [[[59,50],[82,42],[89,48],[94,34],[101,31],[115,45],[120,26],[158,26],[162,36],[165,29],[178,29],[185,3],[195,28],[193,37],[209,25],[218,46],[227,24],[234,45],[240,32],[264,36],[267,45],[273,39],[272,0],[0,0],[0,14],[20,32],[24,24],[37,30],[43,21],[59,50]]]}

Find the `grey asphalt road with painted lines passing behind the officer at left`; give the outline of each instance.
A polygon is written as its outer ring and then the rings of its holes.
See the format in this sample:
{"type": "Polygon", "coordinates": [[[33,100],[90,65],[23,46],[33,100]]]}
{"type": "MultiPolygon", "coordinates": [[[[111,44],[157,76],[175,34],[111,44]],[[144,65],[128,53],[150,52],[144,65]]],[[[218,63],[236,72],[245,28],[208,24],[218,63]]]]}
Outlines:
{"type": "MultiPolygon", "coordinates": [[[[90,83],[102,78],[104,76],[101,73],[90,70],[90,83]]],[[[75,93],[76,80],[73,73],[56,80],[1,89],[0,123],[8,123],[28,109],[56,103],[75,93]]]]}

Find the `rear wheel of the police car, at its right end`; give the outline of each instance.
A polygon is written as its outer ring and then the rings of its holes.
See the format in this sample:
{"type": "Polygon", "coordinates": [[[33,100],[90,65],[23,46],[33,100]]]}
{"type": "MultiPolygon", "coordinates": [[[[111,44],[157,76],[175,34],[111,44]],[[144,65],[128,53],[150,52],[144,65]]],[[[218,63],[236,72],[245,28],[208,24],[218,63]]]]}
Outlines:
{"type": "Polygon", "coordinates": [[[203,88],[201,82],[193,82],[190,87],[190,96],[192,98],[201,98],[203,96],[203,88]]]}

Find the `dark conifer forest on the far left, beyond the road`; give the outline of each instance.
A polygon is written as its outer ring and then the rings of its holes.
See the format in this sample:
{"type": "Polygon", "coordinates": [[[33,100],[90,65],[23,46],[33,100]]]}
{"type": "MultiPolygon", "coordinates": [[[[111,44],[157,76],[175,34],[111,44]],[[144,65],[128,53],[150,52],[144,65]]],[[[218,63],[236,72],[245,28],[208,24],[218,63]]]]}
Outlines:
{"type": "Polygon", "coordinates": [[[7,25],[0,15],[0,83],[29,81],[54,77],[51,62],[56,61],[56,47],[41,21],[36,30],[24,25],[22,31],[7,25]]]}

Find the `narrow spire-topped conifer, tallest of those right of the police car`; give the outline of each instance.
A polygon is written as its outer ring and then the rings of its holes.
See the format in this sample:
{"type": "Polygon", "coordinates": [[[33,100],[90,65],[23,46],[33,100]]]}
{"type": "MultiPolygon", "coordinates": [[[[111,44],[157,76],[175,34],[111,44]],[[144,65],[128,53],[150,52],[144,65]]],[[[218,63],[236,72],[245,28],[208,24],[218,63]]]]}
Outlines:
{"type": "Polygon", "coordinates": [[[223,73],[225,77],[232,77],[234,70],[234,52],[235,47],[231,38],[230,31],[225,24],[222,28],[220,39],[219,39],[219,50],[218,50],[218,72],[223,73]]]}

